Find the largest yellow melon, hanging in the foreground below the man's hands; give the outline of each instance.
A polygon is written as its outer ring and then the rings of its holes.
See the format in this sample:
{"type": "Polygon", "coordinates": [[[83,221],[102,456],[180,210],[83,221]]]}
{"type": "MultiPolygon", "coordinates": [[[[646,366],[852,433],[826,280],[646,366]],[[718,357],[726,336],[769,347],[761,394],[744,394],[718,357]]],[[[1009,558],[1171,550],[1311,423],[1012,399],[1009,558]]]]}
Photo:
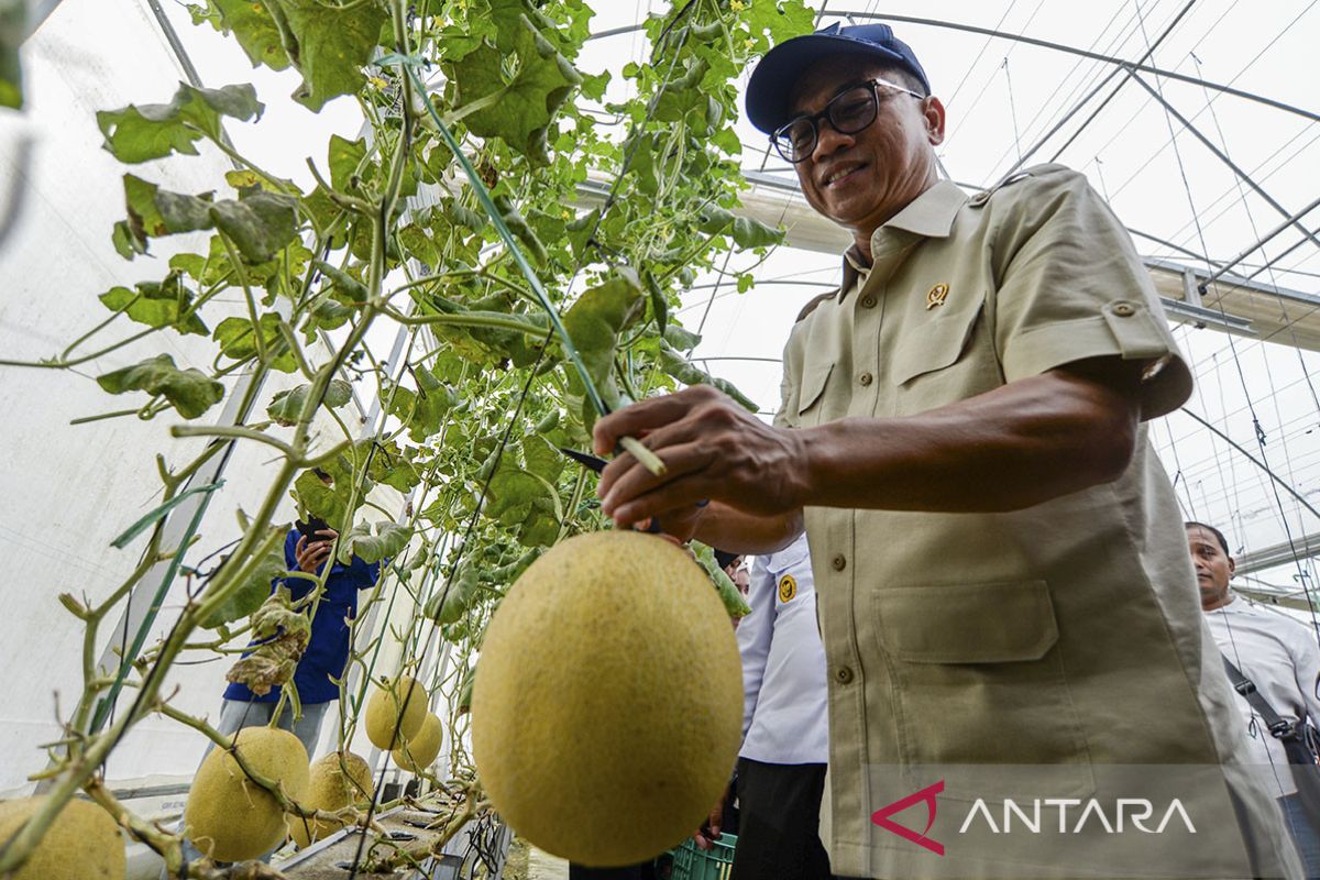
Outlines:
{"type": "Polygon", "coordinates": [[[686,551],[582,534],[533,562],[486,631],[473,757],[535,846],[635,864],[696,831],[723,793],[742,706],[729,613],[686,551]]]}

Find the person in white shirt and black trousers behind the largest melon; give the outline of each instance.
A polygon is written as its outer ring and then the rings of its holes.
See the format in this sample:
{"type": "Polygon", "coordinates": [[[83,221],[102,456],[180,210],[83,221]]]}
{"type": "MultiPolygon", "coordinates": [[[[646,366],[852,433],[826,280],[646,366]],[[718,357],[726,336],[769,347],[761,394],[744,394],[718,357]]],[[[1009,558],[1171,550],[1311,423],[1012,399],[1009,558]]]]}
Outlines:
{"type": "MultiPolygon", "coordinates": [[[[747,604],[738,625],[743,744],[730,880],[829,880],[818,829],[829,760],[825,649],[807,536],[756,557],[747,604]]],[[[709,825],[715,836],[718,814],[709,825]]]]}

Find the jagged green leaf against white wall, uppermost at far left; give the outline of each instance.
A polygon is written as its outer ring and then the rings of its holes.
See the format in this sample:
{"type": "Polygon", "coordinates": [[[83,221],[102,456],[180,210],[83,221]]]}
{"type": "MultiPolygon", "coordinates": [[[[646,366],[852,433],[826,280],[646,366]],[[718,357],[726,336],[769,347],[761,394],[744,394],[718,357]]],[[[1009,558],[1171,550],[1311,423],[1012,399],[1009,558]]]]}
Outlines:
{"type": "Polygon", "coordinates": [[[263,110],[256,90],[247,83],[223,88],[180,83],[168,104],[103,110],[96,113],[96,124],[106,136],[106,149],[120,162],[135,164],[176,152],[197,156],[197,140],[220,140],[220,116],[247,121],[260,117],[263,110]]]}

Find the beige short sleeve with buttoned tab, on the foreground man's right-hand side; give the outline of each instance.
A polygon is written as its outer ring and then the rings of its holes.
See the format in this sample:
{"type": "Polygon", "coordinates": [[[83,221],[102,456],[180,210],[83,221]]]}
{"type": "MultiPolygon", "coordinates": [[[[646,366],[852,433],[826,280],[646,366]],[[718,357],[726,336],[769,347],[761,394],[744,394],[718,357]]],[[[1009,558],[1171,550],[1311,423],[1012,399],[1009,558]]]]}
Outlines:
{"type": "Polygon", "coordinates": [[[1040,169],[998,191],[995,347],[1008,381],[1089,358],[1144,364],[1142,418],[1172,412],[1192,375],[1127,230],[1086,178],[1040,169]]]}

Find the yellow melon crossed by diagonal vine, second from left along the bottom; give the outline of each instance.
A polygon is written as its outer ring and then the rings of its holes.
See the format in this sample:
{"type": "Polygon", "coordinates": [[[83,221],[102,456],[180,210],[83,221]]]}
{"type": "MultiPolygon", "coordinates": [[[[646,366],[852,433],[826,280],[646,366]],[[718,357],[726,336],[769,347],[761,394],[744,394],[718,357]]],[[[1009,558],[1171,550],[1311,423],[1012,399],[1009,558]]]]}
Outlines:
{"type": "MultiPolygon", "coordinates": [[[[308,796],[308,749],[297,736],[271,727],[244,727],[236,749],[253,773],[279,780],[284,793],[308,796]]],[[[255,859],[284,840],[288,827],[280,802],[247,778],[228,751],[211,749],[202,761],[183,807],[187,838],[218,862],[255,859]]]]}

